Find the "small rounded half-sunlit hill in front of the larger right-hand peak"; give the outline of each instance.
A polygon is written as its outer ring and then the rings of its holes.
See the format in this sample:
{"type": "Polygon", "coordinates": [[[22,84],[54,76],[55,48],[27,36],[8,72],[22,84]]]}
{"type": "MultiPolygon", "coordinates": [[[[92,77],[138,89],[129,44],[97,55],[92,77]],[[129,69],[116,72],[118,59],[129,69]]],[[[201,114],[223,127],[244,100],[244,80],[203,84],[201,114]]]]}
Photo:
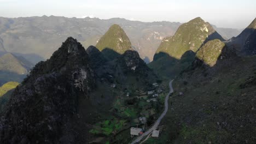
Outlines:
{"type": "Polygon", "coordinates": [[[229,49],[219,39],[210,40],[196,52],[196,58],[213,67],[218,60],[234,57],[235,51],[229,49]]]}

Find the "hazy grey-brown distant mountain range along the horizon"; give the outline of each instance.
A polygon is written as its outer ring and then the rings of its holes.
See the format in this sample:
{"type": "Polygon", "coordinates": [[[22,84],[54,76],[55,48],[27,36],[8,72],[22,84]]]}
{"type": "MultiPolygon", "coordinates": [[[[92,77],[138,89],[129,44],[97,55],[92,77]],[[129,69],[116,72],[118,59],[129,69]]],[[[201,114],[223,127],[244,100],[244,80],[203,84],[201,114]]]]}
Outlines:
{"type": "MultiPolygon", "coordinates": [[[[8,52],[24,56],[36,64],[50,57],[67,37],[74,37],[84,47],[96,45],[100,37],[113,25],[120,25],[130,38],[133,49],[147,63],[165,37],[172,36],[182,24],[179,22],[140,22],[114,18],[101,20],[60,16],[0,17],[0,37],[8,52]]],[[[216,28],[224,38],[235,37],[239,29],[216,28]]],[[[1,43],[1,40],[0,40],[1,43]]],[[[1,47],[1,44],[0,44],[1,47]]]]}

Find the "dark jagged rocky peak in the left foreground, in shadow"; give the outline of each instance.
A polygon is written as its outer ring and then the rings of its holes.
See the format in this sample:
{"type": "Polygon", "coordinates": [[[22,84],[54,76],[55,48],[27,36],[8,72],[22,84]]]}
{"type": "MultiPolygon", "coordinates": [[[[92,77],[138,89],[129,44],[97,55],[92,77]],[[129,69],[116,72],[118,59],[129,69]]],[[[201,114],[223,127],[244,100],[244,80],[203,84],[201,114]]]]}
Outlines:
{"type": "Polygon", "coordinates": [[[84,47],[68,38],[50,59],[39,62],[10,97],[0,121],[0,143],[65,143],[60,139],[77,112],[78,98],[95,87],[88,61],[84,47]]]}

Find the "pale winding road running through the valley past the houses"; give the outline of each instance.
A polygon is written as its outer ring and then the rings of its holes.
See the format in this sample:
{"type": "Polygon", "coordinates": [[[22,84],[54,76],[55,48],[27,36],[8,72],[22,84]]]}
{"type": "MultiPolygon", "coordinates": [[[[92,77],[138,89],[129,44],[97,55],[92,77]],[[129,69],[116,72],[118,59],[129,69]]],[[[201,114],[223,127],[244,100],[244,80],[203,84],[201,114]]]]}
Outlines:
{"type": "Polygon", "coordinates": [[[158,128],[158,125],[160,124],[162,118],[166,115],[167,111],[168,111],[168,98],[170,96],[171,93],[173,93],[173,88],[172,88],[172,81],[171,80],[169,82],[169,88],[170,88],[170,92],[166,95],[165,97],[165,110],[164,112],[162,112],[161,116],[158,118],[158,120],[155,121],[154,125],[147,130],[144,134],[142,134],[141,136],[139,136],[135,141],[133,141],[131,144],[135,144],[138,143],[139,141],[141,141],[143,139],[144,136],[147,136],[148,134],[152,133],[153,130],[156,130],[158,128]]]}

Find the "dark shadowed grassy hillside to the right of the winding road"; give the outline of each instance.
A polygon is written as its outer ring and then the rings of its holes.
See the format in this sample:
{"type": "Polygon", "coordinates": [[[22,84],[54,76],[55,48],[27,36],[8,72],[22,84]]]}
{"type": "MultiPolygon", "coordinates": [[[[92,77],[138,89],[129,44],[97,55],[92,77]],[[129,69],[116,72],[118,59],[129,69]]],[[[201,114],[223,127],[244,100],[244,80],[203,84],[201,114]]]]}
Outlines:
{"type": "Polygon", "coordinates": [[[174,80],[161,136],[148,143],[254,143],[255,70],[253,56],[184,71],[174,80]]]}

